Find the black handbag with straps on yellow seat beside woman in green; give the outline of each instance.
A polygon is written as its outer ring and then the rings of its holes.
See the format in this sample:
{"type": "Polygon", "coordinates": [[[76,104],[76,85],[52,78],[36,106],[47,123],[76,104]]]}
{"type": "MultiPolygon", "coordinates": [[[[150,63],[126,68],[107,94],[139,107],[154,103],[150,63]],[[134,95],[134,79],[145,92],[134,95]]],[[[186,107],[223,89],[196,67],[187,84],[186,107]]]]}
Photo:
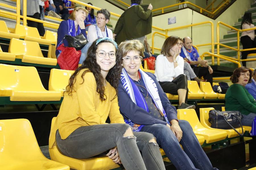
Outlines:
{"type": "Polygon", "coordinates": [[[208,121],[211,123],[211,128],[216,129],[234,129],[236,133],[243,136],[243,126],[241,119],[243,118],[239,111],[217,111],[211,110],[209,112],[208,121]],[[235,128],[242,128],[242,134],[239,133],[235,128]]]}

